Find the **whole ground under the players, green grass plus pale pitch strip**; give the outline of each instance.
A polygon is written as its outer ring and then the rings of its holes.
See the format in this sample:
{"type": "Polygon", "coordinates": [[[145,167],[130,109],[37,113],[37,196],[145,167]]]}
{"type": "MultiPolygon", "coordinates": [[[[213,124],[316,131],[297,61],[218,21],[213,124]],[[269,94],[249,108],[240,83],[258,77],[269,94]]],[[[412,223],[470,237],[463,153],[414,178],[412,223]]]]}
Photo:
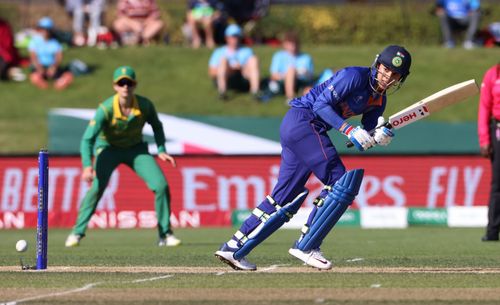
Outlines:
{"type": "Polygon", "coordinates": [[[330,271],[287,254],[296,231],[282,230],[256,248],[256,272],[235,272],[213,252],[233,229],[179,229],[184,244],[155,246],[153,230],[90,230],[78,248],[67,230],[49,232],[47,271],[16,266],[18,239],[34,264],[34,230],[0,239],[0,304],[499,304],[498,243],[482,229],[336,228],[323,251],[330,271]]]}

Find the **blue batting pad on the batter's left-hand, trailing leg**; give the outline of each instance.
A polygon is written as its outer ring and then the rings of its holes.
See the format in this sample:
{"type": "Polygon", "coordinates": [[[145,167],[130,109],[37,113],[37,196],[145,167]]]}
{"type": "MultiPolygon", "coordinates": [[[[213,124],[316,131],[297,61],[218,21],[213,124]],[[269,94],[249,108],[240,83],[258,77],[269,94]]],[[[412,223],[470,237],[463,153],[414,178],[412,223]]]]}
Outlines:
{"type": "Polygon", "coordinates": [[[252,233],[248,234],[248,239],[246,242],[239,248],[236,252],[234,252],[233,257],[237,260],[245,257],[253,248],[255,248],[258,244],[263,242],[266,238],[269,237],[272,233],[278,230],[285,222],[288,222],[293,215],[297,213],[300,206],[304,202],[304,200],[309,194],[309,190],[304,190],[300,193],[295,199],[291,202],[287,203],[276,212],[274,212],[267,221],[262,223],[253,230],[252,233]]]}

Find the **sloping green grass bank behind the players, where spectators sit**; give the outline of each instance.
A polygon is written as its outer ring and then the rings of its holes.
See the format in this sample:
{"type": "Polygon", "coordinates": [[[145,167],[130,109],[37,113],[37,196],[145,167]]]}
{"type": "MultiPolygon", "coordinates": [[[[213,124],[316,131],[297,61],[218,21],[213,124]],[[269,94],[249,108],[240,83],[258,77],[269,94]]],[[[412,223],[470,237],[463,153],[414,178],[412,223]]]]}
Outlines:
{"type": "MultiPolygon", "coordinates": [[[[304,46],[315,61],[316,71],[350,65],[370,65],[383,46],[304,46]]],[[[486,69],[498,61],[498,50],[444,50],[439,47],[408,46],[413,55],[412,73],[405,86],[389,98],[387,113],[428,96],[454,83],[475,78],[478,83],[486,69]]],[[[276,49],[255,47],[262,76],[268,75],[272,53],[276,49]]],[[[97,49],[69,49],[65,61],[81,59],[94,67],[89,75],[77,77],[66,91],[40,91],[24,83],[0,83],[0,154],[35,153],[47,146],[47,113],[54,107],[95,108],[110,96],[111,74],[119,65],[136,68],[137,93],[150,97],[160,112],[176,115],[277,116],[285,111],[284,98],[259,104],[247,94],[233,95],[222,103],[207,76],[210,51],[176,46],[97,49]]],[[[436,115],[431,120],[446,122],[474,121],[477,97],[436,115]]],[[[167,127],[168,128],[168,127],[167,127]]]]}

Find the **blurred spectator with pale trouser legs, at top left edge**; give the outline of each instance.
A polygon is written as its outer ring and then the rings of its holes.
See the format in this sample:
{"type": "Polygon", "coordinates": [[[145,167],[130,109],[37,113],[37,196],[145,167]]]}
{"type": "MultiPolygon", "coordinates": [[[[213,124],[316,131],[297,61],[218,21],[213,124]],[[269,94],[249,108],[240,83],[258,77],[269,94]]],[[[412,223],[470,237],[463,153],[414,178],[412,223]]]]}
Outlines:
{"type": "Polygon", "coordinates": [[[106,0],[67,0],[66,11],[73,18],[73,44],[94,46],[97,41],[106,0]],[[85,16],[89,16],[87,35],[84,33],[85,16]]]}

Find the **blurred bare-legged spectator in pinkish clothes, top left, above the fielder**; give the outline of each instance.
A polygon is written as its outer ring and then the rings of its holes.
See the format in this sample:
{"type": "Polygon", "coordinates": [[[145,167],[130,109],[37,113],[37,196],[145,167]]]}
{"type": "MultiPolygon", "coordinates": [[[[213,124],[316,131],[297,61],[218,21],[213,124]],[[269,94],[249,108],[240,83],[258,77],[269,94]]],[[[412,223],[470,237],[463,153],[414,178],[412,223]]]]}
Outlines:
{"type": "Polygon", "coordinates": [[[148,45],[164,27],[155,0],[118,0],[113,28],[122,44],[148,45]]]}

